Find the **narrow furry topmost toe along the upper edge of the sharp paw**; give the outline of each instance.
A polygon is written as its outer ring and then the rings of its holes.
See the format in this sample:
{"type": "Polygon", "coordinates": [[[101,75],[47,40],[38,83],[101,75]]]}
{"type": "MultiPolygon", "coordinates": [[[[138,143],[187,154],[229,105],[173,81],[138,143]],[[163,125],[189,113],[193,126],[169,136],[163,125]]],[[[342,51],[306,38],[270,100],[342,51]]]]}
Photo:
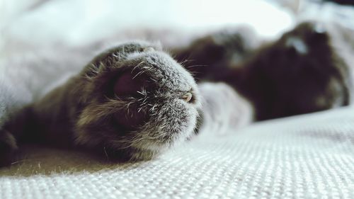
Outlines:
{"type": "Polygon", "coordinates": [[[119,67],[121,61],[124,61],[128,55],[147,52],[150,50],[161,50],[158,43],[149,43],[144,41],[125,42],[124,44],[111,47],[101,54],[93,58],[85,67],[84,75],[88,77],[96,76],[96,74],[111,67],[119,67]]]}

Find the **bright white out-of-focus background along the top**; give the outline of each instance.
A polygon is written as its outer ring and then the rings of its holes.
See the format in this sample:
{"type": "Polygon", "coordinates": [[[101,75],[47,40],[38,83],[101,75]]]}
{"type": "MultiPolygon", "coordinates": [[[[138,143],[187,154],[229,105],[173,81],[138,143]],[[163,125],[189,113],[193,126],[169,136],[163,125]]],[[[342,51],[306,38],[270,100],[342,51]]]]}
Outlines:
{"type": "MultiPolygon", "coordinates": [[[[147,29],[192,36],[245,24],[264,38],[275,38],[309,18],[354,27],[351,7],[321,0],[1,0],[0,44],[3,49],[14,40],[75,46],[117,33],[144,38],[147,29]],[[137,33],[141,30],[145,33],[137,33]]],[[[171,42],[188,42],[185,38],[171,42]]]]}

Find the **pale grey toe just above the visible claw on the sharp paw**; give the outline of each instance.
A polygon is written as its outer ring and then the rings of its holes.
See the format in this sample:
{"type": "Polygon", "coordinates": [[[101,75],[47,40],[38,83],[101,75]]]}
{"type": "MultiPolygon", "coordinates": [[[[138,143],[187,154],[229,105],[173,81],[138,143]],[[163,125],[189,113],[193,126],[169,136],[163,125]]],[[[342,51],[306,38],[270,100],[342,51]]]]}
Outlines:
{"type": "Polygon", "coordinates": [[[135,65],[133,67],[137,73],[148,75],[160,87],[183,91],[195,87],[193,76],[165,52],[149,50],[133,53],[127,56],[127,60],[135,65]]]}

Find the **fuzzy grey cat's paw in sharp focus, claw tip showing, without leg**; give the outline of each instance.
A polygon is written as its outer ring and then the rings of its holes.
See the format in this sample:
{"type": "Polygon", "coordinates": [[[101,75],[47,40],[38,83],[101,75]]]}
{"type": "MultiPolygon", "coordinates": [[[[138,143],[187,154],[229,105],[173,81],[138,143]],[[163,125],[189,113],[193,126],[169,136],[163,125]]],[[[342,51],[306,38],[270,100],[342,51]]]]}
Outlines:
{"type": "Polygon", "coordinates": [[[79,82],[79,144],[150,159],[193,134],[200,107],[197,86],[159,47],[132,42],[103,52],[79,82]]]}

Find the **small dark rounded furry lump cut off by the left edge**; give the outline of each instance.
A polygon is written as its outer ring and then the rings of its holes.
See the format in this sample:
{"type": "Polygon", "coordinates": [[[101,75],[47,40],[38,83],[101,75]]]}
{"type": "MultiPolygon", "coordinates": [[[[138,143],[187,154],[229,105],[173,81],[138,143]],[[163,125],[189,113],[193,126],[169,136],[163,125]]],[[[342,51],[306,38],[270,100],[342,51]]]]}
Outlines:
{"type": "Polygon", "coordinates": [[[16,159],[16,139],[6,130],[0,130],[0,166],[9,166],[16,159]]]}

